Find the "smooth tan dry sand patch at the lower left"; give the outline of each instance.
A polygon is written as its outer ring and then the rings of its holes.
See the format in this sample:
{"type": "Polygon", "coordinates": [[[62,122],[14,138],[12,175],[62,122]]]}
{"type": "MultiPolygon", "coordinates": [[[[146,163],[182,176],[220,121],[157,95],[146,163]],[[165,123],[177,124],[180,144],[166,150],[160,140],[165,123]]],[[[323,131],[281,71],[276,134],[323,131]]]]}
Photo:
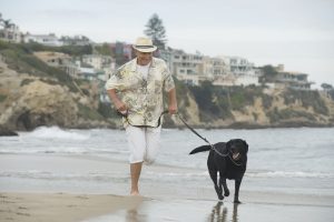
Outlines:
{"type": "Polygon", "coordinates": [[[16,222],[72,222],[137,209],[140,196],[65,193],[1,193],[0,220],[16,222]]]}

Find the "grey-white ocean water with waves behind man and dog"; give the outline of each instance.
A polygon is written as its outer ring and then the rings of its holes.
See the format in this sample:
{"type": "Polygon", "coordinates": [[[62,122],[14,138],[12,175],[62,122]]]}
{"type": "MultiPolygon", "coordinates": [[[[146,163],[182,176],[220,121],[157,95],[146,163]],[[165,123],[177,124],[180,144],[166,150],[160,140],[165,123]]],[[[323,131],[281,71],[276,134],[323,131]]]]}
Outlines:
{"type": "MultiPolygon", "coordinates": [[[[199,129],[198,132],[212,143],[236,138],[247,141],[248,163],[242,191],[334,194],[334,128],[199,129]]],[[[155,165],[165,170],[157,172],[145,167],[141,182],[213,190],[206,169],[208,153],[188,154],[203,144],[206,143],[187,129],[163,129],[155,165]]],[[[128,169],[110,173],[102,164],[94,168],[76,165],[77,159],[126,162],[128,149],[122,130],[41,127],[32,132],[19,132],[19,137],[1,137],[1,155],[6,158],[0,162],[0,191],[42,190],[47,186],[51,191],[94,193],[107,192],[111,183],[115,186],[129,183],[128,169]],[[16,162],[11,161],[13,157],[16,162]],[[17,161],[20,157],[31,159],[29,168],[17,161]],[[43,163],[35,163],[33,157],[42,157],[40,159],[46,161],[48,157],[60,157],[59,167],[52,167],[52,162],[41,167],[43,163]],[[61,158],[71,158],[71,162],[61,158]],[[61,161],[66,167],[61,167],[61,161]],[[72,168],[68,167],[71,164],[72,168]]],[[[234,185],[229,186],[233,190],[234,185]]]]}

